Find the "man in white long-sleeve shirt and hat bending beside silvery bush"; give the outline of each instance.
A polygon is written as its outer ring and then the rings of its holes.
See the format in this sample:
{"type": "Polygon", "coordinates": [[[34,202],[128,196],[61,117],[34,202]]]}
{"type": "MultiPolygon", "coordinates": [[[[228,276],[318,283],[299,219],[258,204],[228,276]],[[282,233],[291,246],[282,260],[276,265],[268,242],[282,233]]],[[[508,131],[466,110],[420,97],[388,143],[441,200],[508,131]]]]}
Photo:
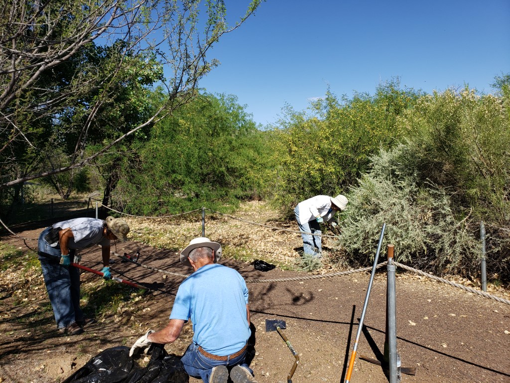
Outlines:
{"type": "Polygon", "coordinates": [[[322,257],[321,230],[319,224],[331,222],[338,210],[345,210],[349,201],[339,194],[335,198],[315,196],[300,202],[294,209],[299,231],[303,238],[305,255],[314,258],[322,257]]]}

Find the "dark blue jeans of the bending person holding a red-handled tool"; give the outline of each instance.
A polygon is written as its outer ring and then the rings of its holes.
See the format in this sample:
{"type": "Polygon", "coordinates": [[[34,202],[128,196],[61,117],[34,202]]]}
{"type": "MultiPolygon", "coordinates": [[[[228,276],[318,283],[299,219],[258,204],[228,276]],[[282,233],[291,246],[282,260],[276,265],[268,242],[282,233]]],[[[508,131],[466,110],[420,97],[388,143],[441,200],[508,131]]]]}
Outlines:
{"type": "MultiPolygon", "coordinates": [[[[75,267],[59,264],[60,247],[49,246],[44,239],[48,232],[49,228],[43,230],[39,236],[39,261],[57,328],[60,329],[84,319],[80,308],[80,272],[75,267]],[[54,258],[50,258],[52,256],[54,258]]],[[[74,251],[71,250],[71,256],[73,253],[74,251]]]]}

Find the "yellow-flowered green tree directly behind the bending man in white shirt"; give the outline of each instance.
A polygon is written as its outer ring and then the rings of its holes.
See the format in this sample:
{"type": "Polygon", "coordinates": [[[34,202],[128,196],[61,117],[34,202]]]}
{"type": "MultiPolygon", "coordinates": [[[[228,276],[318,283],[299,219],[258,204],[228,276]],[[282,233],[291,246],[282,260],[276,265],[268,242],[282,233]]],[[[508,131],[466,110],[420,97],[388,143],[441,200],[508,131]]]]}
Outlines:
{"type": "Polygon", "coordinates": [[[310,196],[336,195],[368,169],[369,156],[402,136],[396,118],[419,93],[399,89],[398,80],[381,84],[376,94],[343,98],[334,94],[312,102],[313,116],[287,108],[276,131],[275,200],[286,211],[310,196]]]}

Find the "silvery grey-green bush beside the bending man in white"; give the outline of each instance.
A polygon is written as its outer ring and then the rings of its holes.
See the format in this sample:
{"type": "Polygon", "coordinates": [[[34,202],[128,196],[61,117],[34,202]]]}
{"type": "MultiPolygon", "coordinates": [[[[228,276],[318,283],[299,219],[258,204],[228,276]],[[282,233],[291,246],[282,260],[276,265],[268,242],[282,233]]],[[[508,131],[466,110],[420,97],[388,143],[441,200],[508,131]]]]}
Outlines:
{"type": "Polygon", "coordinates": [[[447,191],[417,182],[409,147],[373,157],[373,168],[349,193],[340,244],[358,265],[373,261],[380,231],[395,245],[395,259],[421,270],[467,272],[477,263],[477,241],[459,220],[447,191]]]}

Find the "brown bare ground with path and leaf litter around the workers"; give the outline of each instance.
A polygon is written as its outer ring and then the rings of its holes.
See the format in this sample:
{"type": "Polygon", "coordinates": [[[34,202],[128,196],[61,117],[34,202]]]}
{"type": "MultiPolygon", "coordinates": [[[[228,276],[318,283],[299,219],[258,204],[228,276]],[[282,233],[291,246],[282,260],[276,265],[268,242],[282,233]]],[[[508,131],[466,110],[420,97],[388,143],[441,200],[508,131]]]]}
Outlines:
{"type": "MultiPolygon", "coordinates": [[[[293,222],[276,221],[276,213],[260,202],[243,205],[238,217],[297,230],[293,222]]],[[[140,251],[139,262],[145,266],[177,274],[191,272],[180,265],[177,250],[200,235],[199,219],[176,222],[128,217],[126,220],[133,228],[133,240],[112,248],[116,254],[134,255],[140,251]]],[[[5,233],[0,236],[0,244],[11,244],[28,254],[36,249],[37,237],[47,225],[48,222],[41,222],[11,227],[16,236],[5,233]]],[[[255,345],[250,359],[256,379],[260,383],[285,382],[294,364],[295,358],[278,332],[265,330],[266,320],[280,319],[286,322],[283,331],[299,355],[293,382],[343,381],[370,273],[261,282],[261,279],[310,275],[287,270],[294,267],[294,260],[299,257],[298,234],[218,216],[208,219],[206,235],[223,244],[220,262],[252,281],[248,288],[255,345]],[[264,259],[278,267],[269,272],[257,271],[253,268],[254,259],[264,259]]],[[[325,238],[326,249],[331,241],[334,240],[325,238]]],[[[330,256],[335,256],[333,250],[330,256]]],[[[381,254],[381,260],[384,256],[381,254]]],[[[98,247],[86,249],[82,265],[100,270],[100,258],[98,247]]],[[[90,293],[84,307],[86,312],[95,315],[98,323],[73,337],[57,333],[37,268],[27,269],[21,264],[1,272],[0,383],[62,381],[100,350],[131,346],[147,329],[166,325],[183,277],[121,262],[115,255],[112,259],[116,260],[112,275],[143,284],[150,291],[140,294],[123,285],[124,294],[119,295],[116,282],[105,282],[84,272],[82,291],[90,293]],[[112,309],[98,312],[97,303],[91,303],[97,302],[94,295],[109,297],[108,305],[112,309]]],[[[338,271],[327,260],[326,257],[319,273],[338,271]]],[[[385,270],[379,269],[373,282],[352,382],[388,381],[380,366],[359,357],[366,355],[382,360],[385,270]]],[[[502,288],[491,285],[488,292],[509,299],[507,290],[502,288]]],[[[211,296],[214,299],[213,292],[211,296]]],[[[397,274],[396,302],[397,347],[402,367],[417,368],[415,376],[402,375],[402,381],[510,382],[510,305],[406,273],[397,274]]],[[[165,348],[170,354],[182,355],[191,338],[191,329],[185,328],[180,339],[165,348]]],[[[143,357],[140,362],[143,363],[143,357]]],[[[190,378],[192,383],[199,381],[190,378]]]]}

